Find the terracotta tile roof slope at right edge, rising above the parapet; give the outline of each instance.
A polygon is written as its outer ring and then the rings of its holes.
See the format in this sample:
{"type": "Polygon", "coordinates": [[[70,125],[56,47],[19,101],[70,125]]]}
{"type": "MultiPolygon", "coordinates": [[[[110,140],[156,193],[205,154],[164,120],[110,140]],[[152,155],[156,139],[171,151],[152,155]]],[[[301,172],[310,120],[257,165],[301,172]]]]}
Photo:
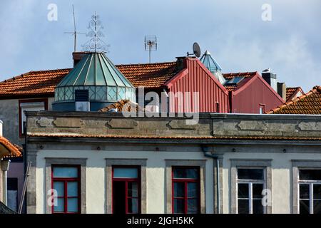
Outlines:
{"type": "Polygon", "coordinates": [[[270,110],[267,114],[321,114],[321,86],[270,110]]]}

